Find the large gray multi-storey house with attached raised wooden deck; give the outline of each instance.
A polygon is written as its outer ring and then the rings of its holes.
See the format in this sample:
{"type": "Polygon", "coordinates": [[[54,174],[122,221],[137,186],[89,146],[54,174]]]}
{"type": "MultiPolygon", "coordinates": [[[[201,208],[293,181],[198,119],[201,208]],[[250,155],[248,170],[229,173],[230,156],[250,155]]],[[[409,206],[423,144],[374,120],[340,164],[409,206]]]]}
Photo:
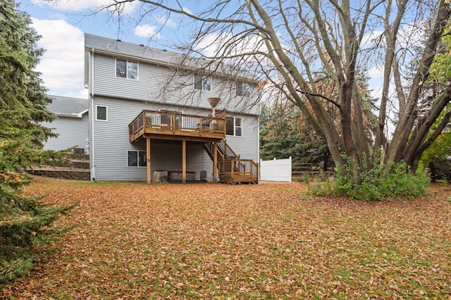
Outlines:
{"type": "Polygon", "coordinates": [[[85,34],[92,180],[257,182],[258,82],[202,63],[85,34]]]}

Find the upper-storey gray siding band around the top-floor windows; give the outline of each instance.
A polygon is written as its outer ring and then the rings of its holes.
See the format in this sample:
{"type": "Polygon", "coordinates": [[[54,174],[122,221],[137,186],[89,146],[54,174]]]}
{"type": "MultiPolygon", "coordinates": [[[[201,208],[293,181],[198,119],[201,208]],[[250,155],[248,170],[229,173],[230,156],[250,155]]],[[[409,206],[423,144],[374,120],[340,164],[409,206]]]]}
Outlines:
{"type": "MultiPolygon", "coordinates": [[[[130,58],[132,60],[132,58],[130,58]]],[[[220,97],[217,110],[259,114],[258,90],[250,97],[235,96],[235,82],[212,75],[211,91],[194,89],[192,73],[139,61],[138,80],[116,77],[116,58],[94,55],[94,95],[130,97],[142,101],[158,101],[183,107],[211,109],[207,99],[220,97]]]]}

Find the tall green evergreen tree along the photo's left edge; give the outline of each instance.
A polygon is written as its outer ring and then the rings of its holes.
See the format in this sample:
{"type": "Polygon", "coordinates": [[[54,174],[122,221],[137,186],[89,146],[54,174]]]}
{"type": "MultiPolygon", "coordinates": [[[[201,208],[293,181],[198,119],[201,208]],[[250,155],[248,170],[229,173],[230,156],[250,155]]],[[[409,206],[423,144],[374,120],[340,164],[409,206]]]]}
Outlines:
{"type": "Polygon", "coordinates": [[[36,244],[61,232],[51,224],[70,207],[51,207],[37,197],[21,196],[30,183],[27,168],[63,158],[45,151],[53,136],[40,122],[54,119],[51,99],[34,68],[43,49],[28,15],[13,0],[0,1],[0,285],[27,273],[39,255],[36,244]]]}

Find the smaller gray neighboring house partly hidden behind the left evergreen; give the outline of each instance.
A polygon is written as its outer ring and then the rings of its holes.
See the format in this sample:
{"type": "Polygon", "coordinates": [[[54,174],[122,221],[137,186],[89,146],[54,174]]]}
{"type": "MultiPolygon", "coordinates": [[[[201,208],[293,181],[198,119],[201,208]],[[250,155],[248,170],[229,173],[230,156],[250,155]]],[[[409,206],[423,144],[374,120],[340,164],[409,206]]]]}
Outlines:
{"type": "Polygon", "coordinates": [[[87,99],[50,96],[51,104],[47,109],[56,115],[51,123],[42,125],[52,128],[58,137],[51,137],[44,143],[44,149],[63,150],[76,146],[85,149],[87,153],[88,141],[88,101],[87,99]]]}

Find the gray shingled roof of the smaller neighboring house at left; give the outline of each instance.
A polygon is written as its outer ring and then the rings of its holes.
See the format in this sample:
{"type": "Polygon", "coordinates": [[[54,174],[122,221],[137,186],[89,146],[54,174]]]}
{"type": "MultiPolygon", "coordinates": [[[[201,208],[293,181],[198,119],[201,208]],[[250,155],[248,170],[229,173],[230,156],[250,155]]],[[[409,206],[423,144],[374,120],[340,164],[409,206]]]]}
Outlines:
{"type": "Polygon", "coordinates": [[[47,109],[58,116],[82,118],[87,112],[87,99],[71,98],[64,96],[49,96],[52,99],[47,109]]]}

